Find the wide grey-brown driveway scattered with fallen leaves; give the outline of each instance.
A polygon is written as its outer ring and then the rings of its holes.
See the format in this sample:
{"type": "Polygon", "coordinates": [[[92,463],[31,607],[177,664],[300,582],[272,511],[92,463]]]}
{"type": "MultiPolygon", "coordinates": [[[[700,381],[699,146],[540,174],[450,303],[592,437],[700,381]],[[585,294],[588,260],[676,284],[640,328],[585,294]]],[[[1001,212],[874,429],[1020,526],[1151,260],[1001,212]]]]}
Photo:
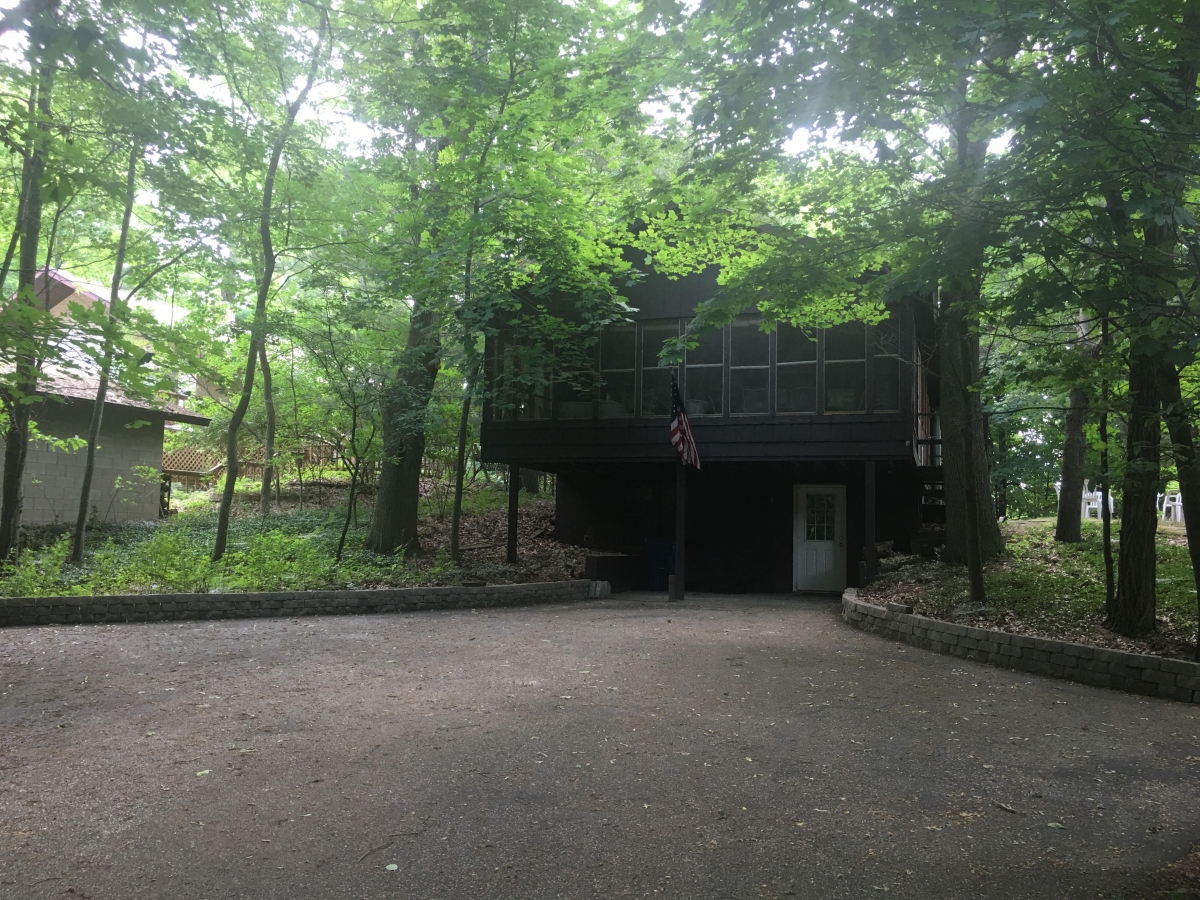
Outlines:
{"type": "Polygon", "coordinates": [[[1142,896],[1198,718],[791,598],[6,629],[0,896],[1142,896]]]}

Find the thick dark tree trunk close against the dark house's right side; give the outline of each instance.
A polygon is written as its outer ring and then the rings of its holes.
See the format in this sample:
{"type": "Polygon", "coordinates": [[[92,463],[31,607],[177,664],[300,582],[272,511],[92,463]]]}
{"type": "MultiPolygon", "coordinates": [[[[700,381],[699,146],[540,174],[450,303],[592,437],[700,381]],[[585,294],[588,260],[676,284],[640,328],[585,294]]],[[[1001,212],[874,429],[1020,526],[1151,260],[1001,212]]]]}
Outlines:
{"type": "Polygon", "coordinates": [[[938,355],[941,358],[941,419],[946,484],[946,547],[942,559],[950,563],[967,562],[967,473],[971,472],[976,494],[976,521],[979,551],[983,559],[991,559],[1004,547],[1000,524],[991,504],[986,440],[983,433],[983,409],[979,392],[968,390],[978,378],[979,343],[970,334],[960,316],[943,314],[938,322],[938,355]],[[970,370],[964,372],[966,358],[970,370]],[[955,362],[958,362],[955,365],[955,362]],[[964,430],[972,427],[971,462],[966,464],[967,446],[964,430]]]}

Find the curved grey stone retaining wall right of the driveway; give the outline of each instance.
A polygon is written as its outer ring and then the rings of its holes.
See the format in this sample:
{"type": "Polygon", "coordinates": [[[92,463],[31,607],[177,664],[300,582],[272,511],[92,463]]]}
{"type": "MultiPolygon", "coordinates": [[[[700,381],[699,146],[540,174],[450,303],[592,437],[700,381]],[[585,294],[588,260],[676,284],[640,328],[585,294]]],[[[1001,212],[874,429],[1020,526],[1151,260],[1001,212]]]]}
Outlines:
{"type": "Polygon", "coordinates": [[[863,602],[853,588],[842,594],[841,617],[863,631],[926,650],[1098,688],[1200,703],[1200,666],[1195,662],[956,625],[914,616],[912,607],[904,604],[883,608],[863,602]]]}

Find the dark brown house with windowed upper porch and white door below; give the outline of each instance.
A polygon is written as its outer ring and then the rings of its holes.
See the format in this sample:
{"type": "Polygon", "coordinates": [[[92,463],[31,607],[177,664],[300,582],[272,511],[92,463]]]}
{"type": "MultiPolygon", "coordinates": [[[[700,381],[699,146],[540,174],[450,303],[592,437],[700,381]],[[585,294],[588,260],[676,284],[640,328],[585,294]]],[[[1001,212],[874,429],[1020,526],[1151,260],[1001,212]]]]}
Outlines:
{"type": "MultiPolygon", "coordinates": [[[[556,473],[557,536],[623,554],[595,562],[616,588],[665,589],[672,571],[678,456],[658,353],[715,290],[710,272],[652,274],[626,292],[634,323],[601,335],[596,391],[485,407],[484,461],[556,473]]],[[[493,396],[521,342],[488,340],[493,396]]],[[[908,550],[944,527],[935,348],[916,301],[880,325],[764,332],[745,314],[703,337],[678,370],[702,458],[686,472],[689,589],[840,592],[874,574],[877,542],[908,550]]]]}

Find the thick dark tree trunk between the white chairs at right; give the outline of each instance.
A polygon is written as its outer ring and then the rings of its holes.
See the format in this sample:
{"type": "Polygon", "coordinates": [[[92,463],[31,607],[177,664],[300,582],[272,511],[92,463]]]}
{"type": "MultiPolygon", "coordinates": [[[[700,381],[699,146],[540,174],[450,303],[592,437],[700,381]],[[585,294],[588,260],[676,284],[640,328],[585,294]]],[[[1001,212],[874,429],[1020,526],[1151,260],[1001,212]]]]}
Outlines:
{"type": "Polygon", "coordinates": [[[1117,595],[1105,624],[1127,636],[1154,630],[1158,530],[1159,444],[1158,361],[1147,354],[1129,358],[1129,432],[1126,438],[1124,488],[1121,494],[1121,546],[1117,595]]]}

